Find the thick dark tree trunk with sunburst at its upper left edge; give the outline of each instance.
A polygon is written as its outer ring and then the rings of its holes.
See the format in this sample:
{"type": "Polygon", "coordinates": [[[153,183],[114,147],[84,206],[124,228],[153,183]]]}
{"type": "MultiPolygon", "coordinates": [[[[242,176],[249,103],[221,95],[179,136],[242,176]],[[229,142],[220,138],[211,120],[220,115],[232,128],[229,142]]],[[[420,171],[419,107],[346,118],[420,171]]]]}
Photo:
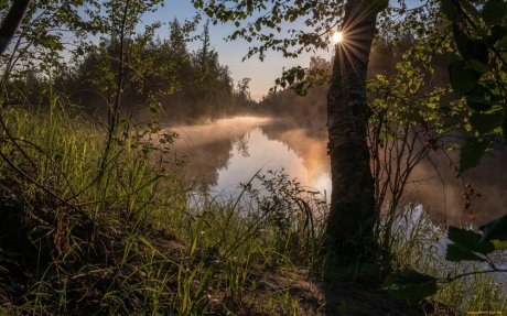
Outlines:
{"type": "Polygon", "coordinates": [[[370,262],[376,249],[377,213],[367,144],[370,109],[366,99],[366,73],[378,12],[371,2],[346,3],[344,41],[336,45],[327,95],[333,190],[326,227],[326,270],[370,262]]]}

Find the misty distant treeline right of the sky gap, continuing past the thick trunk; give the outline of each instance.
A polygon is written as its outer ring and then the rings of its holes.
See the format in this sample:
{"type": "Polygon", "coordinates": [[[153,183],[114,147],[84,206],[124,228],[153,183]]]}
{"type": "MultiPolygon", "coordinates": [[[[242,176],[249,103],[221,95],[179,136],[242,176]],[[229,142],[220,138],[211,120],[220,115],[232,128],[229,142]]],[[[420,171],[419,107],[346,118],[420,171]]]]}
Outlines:
{"type": "MultiPolygon", "coordinates": [[[[407,62],[404,61],[407,56],[403,57],[403,55],[411,54],[410,50],[418,41],[410,32],[397,40],[377,39],[371,47],[368,79],[373,81],[377,76],[390,78],[400,73],[401,64],[407,62]]],[[[453,58],[455,58],[454,53],[434,53],[431,58],[432,74],[424,78],[420,94],[431,91],[435,87],[449,87],[447,65],[453,58]]],[[[414,62],[412,67],[421,67],[421,63],[414,62]]],[[[304,86],[303,89],[300,87],[298,91],[295,81],[287,85],[287,88],[273,89],[259,102],[258,111],[268,116],[290,119],[298,126],[324,128],[330,87],[328,78],[332,68],[331,59],[319,56],[312,57],[309,66],[304,68],[304,78],[300,81],[304,86]]],[[[451,99],[451,95],[442,96],[442,106],[445,107],[451,99]]]]}

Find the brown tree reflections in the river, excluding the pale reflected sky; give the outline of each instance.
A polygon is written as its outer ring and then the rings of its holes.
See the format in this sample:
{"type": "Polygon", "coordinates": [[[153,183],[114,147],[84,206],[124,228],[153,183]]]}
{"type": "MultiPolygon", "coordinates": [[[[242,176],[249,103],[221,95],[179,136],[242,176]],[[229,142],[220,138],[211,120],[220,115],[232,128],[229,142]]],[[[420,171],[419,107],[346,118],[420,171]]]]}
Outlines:
{"type": "MultiPolygon", "coordinates": [[[[216,185],[219,171],[228,167],[235,151],[249,156],[248,133],[258,126],[256,121],[245,123],[230,119],[175,129],[182,138],[175,148],[180,156],[186,156],[186,175],[205,187],[216,185]]],[[[276,120],[259,128],[269,140],[283,143],[302,159],[310,181],[328,174],[325,129],[298,127],[292,120],[276,120]]],[[[431,159],[436,171],[429,161],[417,166],[406,188],[404,200],[421,203],[434,219],[444,220],[446,217],[450,224],[460,222],[465,219],[463,184],[446,159],[434,154],[431,159]]],[[[498,205],[507,205],[507,151],[495,151],[483,160],[481,166],[464,174],[482,194],[481,198],[472,200],[477,224],[498,217],[500,214],[492,214],[492,210],[498,209],[498,205]]]]}

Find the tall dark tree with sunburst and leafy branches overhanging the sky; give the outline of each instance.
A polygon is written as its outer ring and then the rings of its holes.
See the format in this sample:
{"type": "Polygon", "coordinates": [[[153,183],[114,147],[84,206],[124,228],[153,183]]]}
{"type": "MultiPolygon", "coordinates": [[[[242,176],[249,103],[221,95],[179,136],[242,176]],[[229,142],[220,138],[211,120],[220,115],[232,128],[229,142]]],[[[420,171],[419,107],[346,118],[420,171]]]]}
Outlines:
{"type": "MultiPolygon", "coordinates": [[[[298,57],[304,51],[327,47],[328,35],[341,25],[346,40],[336,46],[327,106],[333,192],[325,250],[328,268],[369,261],[377,214],[366,138],[366,72],[377,13],[388,1],[294,1],[290,6],[280,0],[193,2],[215,20],[233,21],[238,30],[231,40],[259,43],[247,57],[262,59],[268,50],[298,57]],[[299,23],[284,30],[292,22],[299,23]]],[[[305,70],[296,67],[278,83],[304,87],[305,77],[305,70]]]]}

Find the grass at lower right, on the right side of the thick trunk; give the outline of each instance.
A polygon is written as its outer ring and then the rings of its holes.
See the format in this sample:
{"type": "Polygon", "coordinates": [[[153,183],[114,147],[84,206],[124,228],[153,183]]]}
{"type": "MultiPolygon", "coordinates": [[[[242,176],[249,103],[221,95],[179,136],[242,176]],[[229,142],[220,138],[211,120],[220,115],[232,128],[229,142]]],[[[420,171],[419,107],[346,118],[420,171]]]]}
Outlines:
{"type": "Polygon", "coordinates": [[[507,313],[505,275],[483,274],[481,271],[487,266],[478,263],[445,261],[446,229],[434,225],[422,206],[408,205],[391,217],[386,220],[392,224],[390,239],[393,242],[391,262],[395,270],[413,269],[441,280],[464,272],[477,272],[441,284],[436,295],[427,299],[436,315],[507,313]]]}

